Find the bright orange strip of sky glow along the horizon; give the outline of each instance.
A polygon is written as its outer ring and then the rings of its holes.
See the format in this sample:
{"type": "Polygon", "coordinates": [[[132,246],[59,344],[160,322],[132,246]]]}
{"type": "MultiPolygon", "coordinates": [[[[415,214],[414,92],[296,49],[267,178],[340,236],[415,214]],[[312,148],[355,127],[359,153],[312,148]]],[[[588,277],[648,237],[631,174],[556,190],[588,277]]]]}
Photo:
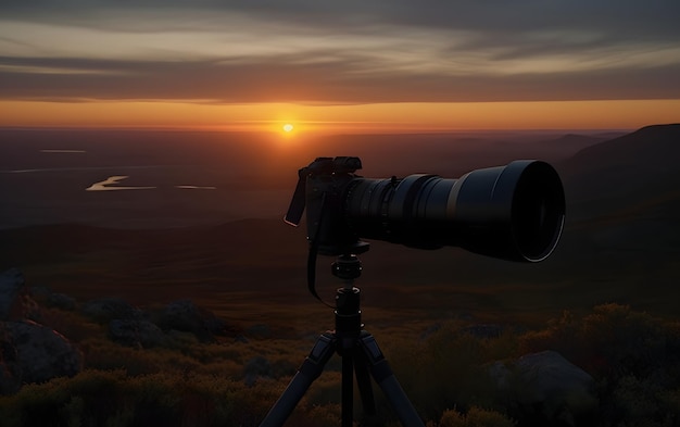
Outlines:
{"type": "Polygon", "coordinates": [[[191,128],[295,134],[464,129],[631,129],[679,123],[680,100],[468,103],[206,104],[0,101],[3,127],[191,128]],[[225,118],[226,117],[226,118],[225,118]],[[291,121],[294,117],[294,121],[291,121]],[[294,130],[282,130],[290,124],[294,130]]]}

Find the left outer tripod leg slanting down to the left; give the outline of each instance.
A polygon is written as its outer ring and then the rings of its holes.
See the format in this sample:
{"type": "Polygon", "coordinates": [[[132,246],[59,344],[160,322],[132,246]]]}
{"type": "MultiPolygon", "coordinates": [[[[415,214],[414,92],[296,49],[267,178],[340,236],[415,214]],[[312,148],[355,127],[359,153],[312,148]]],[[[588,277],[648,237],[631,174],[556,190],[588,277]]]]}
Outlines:
{"type": "Polygon", "coordinates": [[[300,399],[324,371],[326,362],[336,351],[336,346],[337,340],[332,334],[327,332],[317,338],[310,355],[305,357],[302,366],[274,406],[272,406],[260,427],[280,427],[286,423],[300,399]]]}

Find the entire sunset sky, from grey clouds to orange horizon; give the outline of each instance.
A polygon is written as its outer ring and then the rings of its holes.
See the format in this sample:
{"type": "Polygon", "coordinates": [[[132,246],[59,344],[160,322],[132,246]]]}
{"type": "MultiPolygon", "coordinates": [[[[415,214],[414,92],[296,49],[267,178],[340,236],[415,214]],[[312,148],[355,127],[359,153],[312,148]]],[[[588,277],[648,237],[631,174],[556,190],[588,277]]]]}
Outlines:
{"type": "Polygon", "coordinates": [[[678,0],[2,0],[0,126],[680,122],[678,0]]]}

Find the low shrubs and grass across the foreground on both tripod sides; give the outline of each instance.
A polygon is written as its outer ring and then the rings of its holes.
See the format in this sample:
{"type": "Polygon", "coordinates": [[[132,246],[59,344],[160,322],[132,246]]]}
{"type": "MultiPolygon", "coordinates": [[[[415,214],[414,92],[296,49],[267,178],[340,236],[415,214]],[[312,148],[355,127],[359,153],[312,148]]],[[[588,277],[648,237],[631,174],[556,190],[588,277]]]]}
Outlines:
{"type": "MultiPolygon", "coordinates": [[[[256,426],[287,386],[311,341],[251,337],[135,349],[112,342],[104,325],[49,309],[46,318],[78,343],[85,369],[26,385],[0,398],[2,426],[256,426]]],[[[499,399],[488,365],[555,350],[595,379],[594,426],[680,424],[680,324],[626,305],[565,312],[540,330],[505,327],[479,337],[448,321],[417,338],[380,339],[396,377],[428,426],[532,425],[526,409],[499,399]]],[[[521,393],[522,390],[513,390],[521,393]]],[[[380,415],[399,425],[376,388],[380,415]]],[[[340,360],[298,405],[289,425],[337,426],[340,360]]],[[[358,406],[358,405],[357,405],[358,406]]]]}

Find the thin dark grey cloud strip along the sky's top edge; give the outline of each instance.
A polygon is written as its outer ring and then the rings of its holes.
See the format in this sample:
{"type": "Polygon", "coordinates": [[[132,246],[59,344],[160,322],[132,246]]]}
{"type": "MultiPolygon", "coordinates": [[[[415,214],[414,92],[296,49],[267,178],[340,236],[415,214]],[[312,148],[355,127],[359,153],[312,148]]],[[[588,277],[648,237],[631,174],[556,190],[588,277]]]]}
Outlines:
{"type": "MultiPolygon", "coordinates": [[[[180,23],[218,25],[225,15],[289,23],[305,28],[347,30],[352,27],[396,25],[426,28],[457,28],[480,32],[524,32],[544,29],[602,30],[620,37],[651,37],[677,41],[680,3],[675,0],[457,0],[414,3],[411,0],[314,0],[267,1],[184,1],[138,0],[3,0],[0,15],[40,22],[106,21],[106,15],[185,16],[180,23]],[[212,20],[210,17],[213,17],[212,20]],[[198,18],[198,21],[196,21],[198,18]]],[[[148,20],[144,20],[148,21],[148,20]]],[[[119,28],[135,21],[117,21],[119,28]]]]}

